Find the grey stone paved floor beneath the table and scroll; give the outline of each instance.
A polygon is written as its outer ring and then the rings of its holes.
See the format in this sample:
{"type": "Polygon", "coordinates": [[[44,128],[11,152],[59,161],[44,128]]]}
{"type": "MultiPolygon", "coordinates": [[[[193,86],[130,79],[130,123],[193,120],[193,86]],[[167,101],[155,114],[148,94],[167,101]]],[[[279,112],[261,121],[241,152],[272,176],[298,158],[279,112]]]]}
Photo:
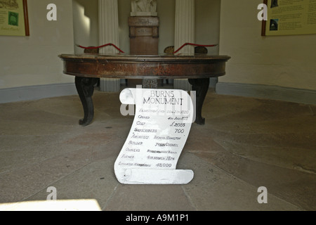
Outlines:
{"type": "Polygon", "coordinates": [[[192,124],[178,162],[194,179],[124,185],[113,165],[133,117],[120,114],[118,94],[93,101],[88,127],[78,96],[0,105],[0,210],[44,209],[51,186],[59,203],[95,200],[100,210],[316,210],[316,105],[210,90],[206,125],[192,124]],[[268,203],[258,203],[261,186],[268,203]]]}

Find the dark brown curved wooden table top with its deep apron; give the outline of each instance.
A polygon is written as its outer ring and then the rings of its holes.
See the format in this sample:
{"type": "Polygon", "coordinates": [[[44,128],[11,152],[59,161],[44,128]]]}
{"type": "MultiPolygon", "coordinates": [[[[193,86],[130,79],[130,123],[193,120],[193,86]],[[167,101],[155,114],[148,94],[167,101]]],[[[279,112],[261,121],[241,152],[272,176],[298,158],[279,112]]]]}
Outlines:
{"type": "Polygon", "coordinates": [[[225,75],[230,56],[61,54],[63,72],[79,77],[188,79],[225,75]]]}

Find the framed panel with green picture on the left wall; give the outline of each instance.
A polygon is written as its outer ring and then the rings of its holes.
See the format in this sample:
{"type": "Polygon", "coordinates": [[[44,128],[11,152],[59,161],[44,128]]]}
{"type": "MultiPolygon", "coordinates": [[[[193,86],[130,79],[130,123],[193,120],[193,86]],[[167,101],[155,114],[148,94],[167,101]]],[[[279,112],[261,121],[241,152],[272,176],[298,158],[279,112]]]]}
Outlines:
{"type": "Polygon", "coordinates": [[[0,0],[0,35],[29,36],[27,0],[0,0]]]}

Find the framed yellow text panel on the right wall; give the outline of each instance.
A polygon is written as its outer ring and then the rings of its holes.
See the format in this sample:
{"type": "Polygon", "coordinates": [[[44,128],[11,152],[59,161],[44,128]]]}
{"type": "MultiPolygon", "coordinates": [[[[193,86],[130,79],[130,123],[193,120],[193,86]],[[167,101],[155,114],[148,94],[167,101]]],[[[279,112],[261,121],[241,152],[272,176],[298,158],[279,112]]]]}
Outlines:
{"type": "Polygon", "coordinates": [[[316,34],[315,0],[264,0],[268,20],[262,36],[316,34]]]}

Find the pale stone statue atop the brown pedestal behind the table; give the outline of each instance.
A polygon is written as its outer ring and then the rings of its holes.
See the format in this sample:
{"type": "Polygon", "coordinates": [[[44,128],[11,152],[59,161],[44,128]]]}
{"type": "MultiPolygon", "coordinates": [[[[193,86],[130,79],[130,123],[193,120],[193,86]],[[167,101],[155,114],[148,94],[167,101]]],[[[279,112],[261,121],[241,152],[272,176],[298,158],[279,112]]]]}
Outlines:
{"type": "Polygon", "coordinates": [[[131,0],[131,16],[157,16],[157,0],[131,0]]]}

